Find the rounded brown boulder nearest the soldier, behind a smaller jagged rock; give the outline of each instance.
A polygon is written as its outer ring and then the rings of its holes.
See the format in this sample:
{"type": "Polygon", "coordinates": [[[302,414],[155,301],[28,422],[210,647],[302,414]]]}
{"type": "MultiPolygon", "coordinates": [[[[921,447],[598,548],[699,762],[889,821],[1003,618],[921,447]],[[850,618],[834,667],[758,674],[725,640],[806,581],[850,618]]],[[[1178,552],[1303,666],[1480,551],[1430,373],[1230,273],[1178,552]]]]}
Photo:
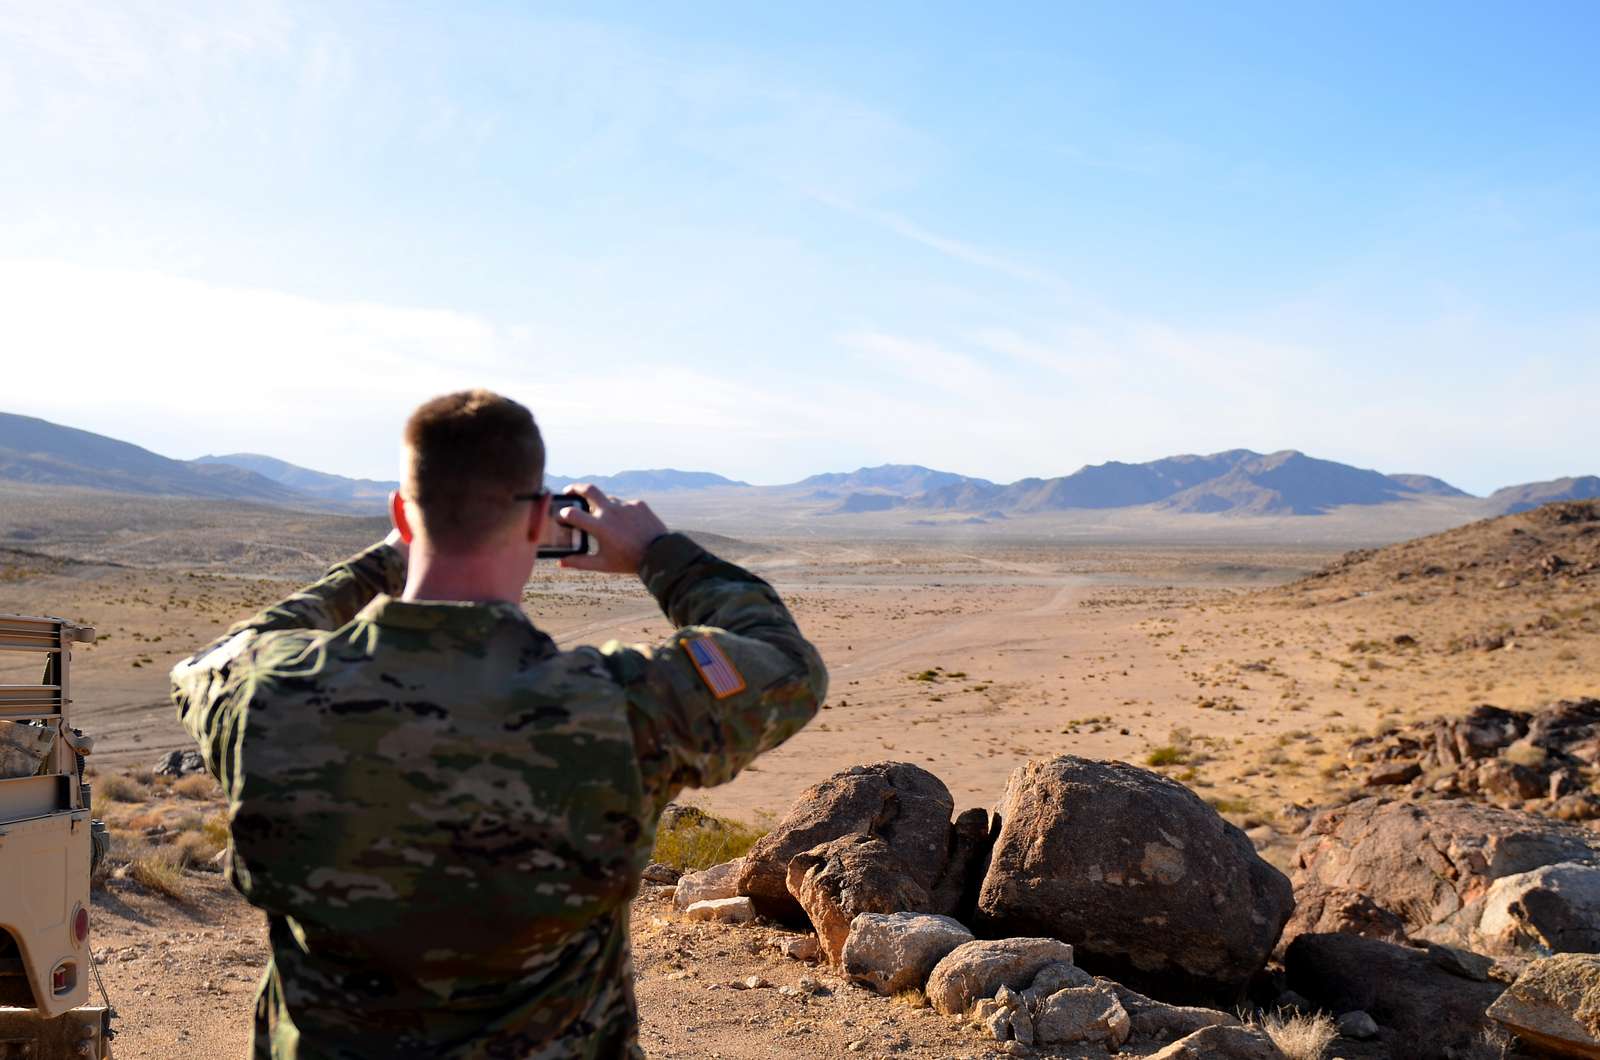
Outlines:
{"type": "MultiPolygon", "coordinates": [[[[789,860],[851,833],[885,839],[923,889],[944,874],[955,801],[944,783],[909,762],[854,765],[806,788],[778,826],[744,855],[738,893],[762,916],[803,916],[789,893],[789,860]]],[[[928,909],[920,909],[928,911],[928,909]]],[[[846,921],[848,924],[848,921],[846,921]]]]}

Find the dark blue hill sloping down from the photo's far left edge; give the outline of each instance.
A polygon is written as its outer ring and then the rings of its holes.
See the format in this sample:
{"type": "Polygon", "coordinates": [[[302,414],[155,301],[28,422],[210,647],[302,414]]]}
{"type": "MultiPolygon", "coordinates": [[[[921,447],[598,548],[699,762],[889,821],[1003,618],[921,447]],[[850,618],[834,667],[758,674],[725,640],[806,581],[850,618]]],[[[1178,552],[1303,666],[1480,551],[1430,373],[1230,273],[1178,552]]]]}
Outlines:
{"type": "Polygon", "coordinates": [[[104,434],[13,413],[0,413],[0,479],[269,504],[307,500],[243,468],[195,466],[104,434]]]}

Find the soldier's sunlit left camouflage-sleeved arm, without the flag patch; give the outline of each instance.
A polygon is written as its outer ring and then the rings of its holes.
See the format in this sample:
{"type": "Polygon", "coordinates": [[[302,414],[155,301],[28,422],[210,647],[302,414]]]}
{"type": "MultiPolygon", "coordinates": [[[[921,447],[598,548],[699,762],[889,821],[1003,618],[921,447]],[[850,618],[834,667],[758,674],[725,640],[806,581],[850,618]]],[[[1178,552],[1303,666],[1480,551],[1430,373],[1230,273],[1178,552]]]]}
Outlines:
{"type": "Polygon", "coordinates": [[[234,623],[227,632],[173,668],[178,721],[198,743],[211,772],[227,783],[224,761],[235,745],[248,668],[240,658],[262,632],[338,629],[379,592],[405,586],[405,559],[392,544],[374,544],[334,564],[322,578],[264,612],[234,623]]]}

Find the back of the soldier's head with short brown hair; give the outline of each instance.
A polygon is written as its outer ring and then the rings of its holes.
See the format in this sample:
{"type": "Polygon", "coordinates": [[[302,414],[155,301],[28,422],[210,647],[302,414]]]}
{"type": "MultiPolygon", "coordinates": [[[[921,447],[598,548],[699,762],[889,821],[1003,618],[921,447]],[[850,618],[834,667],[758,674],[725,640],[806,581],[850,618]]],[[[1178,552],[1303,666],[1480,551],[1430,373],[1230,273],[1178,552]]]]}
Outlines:
{"type": "Polygon", "coordinates": [[[542,488],[544,439],[533,413],[491,391],[424,402],[405,424],[402,490],[422,528],[445,549],[488,541],[512,516],[517,493],[542,488]]]}

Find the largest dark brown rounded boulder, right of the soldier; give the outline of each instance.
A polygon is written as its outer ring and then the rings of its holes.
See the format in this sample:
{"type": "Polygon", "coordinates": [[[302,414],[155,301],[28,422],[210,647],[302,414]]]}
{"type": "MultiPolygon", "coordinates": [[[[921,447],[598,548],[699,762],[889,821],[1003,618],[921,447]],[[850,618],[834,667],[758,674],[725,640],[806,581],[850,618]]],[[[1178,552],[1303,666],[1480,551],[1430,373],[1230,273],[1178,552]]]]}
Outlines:
{"type": "Polygon", "coordinates": [[[1088,970],[1168,1001],[1235,1001],[1294,903],[1242,831],[1133,765],[1029,762],[995,817],[978,934],[1070,938],[1088,970]]]}

